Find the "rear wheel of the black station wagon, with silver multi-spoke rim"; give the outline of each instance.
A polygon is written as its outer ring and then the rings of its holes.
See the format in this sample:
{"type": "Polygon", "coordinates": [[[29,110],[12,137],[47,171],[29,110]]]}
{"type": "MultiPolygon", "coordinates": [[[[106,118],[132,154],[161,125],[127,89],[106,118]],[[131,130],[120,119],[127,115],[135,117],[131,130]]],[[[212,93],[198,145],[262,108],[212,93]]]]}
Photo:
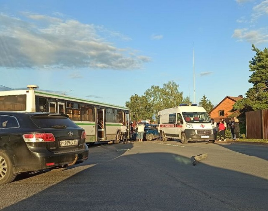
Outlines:
{"type": "Polygon", "coordinates": [[[12,182],[17,173],[13,173],[11,160],[4,152],[0,152],[0,184],[12,182]]]}

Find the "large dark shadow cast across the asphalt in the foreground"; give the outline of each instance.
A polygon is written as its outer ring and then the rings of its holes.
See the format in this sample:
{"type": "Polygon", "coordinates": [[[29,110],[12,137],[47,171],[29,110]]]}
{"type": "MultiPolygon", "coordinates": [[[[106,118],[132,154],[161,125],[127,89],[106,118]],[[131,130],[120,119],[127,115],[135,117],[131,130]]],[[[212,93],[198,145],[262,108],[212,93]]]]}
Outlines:
{"type": "MultiPolygon", "coordinates": [[[[142,143],[136,145],[149,147],[142,143]]],[[[194,166],[190,157],[163,152],[132,154],[132,147],[121,143],[94,147],[89,160],[81,164],[82,171],[70,177],[67,176],[72,169],[58,172],[57,177],[67,178],[2,211],[268,208],[267,179],[214,167],[209,157],[194,166]]],[[[47,172],[43,179],[52,173],[47,172]]],[[[38,181],[31,182],[38,186],[38,181]]],[[[13,185],[24,186],[22,181],[17,183],[6,184],[2,190],[8,191],[13,185]]],[[[5,202],[3,196],[2,202],[5,202]]]]}

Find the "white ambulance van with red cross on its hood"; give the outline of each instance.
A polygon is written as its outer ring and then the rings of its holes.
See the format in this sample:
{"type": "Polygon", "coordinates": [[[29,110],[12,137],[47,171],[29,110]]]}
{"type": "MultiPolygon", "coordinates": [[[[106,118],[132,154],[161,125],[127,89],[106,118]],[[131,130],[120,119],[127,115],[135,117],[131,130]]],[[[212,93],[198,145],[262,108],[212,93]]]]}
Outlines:
{"type": "Polygon", "coordinates": [[[163,141],[180,139],[188,141],[208,141],[214,143],[214,125],[207,111],[197,104],[180,104],[174,108],[158,112],[158,132],[163,141]]]}

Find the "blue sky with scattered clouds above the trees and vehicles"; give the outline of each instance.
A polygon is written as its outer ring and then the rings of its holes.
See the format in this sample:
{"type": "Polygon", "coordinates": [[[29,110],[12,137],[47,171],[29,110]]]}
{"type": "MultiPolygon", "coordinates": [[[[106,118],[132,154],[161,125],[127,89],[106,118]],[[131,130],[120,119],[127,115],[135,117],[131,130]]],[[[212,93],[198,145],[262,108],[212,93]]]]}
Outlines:
{"type": "Polygon", "coordinates": [[[0,88],[125,105],[174,81],[217,105],[245,96],[268,0],[0,0],[0,88]]]}

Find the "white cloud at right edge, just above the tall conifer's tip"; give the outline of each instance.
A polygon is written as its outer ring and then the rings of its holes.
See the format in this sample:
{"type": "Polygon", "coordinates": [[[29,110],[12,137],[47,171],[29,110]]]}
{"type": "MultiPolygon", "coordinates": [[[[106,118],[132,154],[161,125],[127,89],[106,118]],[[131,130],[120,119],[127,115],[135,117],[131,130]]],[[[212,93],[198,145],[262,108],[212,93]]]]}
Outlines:
{"type": "Polygon", "coordinates": [[[268,28],[258,30],[235,29],[232,37],[238,38],[238,41],[247,41],[252,44],[266,43],[268,42],[268,28]]]}

